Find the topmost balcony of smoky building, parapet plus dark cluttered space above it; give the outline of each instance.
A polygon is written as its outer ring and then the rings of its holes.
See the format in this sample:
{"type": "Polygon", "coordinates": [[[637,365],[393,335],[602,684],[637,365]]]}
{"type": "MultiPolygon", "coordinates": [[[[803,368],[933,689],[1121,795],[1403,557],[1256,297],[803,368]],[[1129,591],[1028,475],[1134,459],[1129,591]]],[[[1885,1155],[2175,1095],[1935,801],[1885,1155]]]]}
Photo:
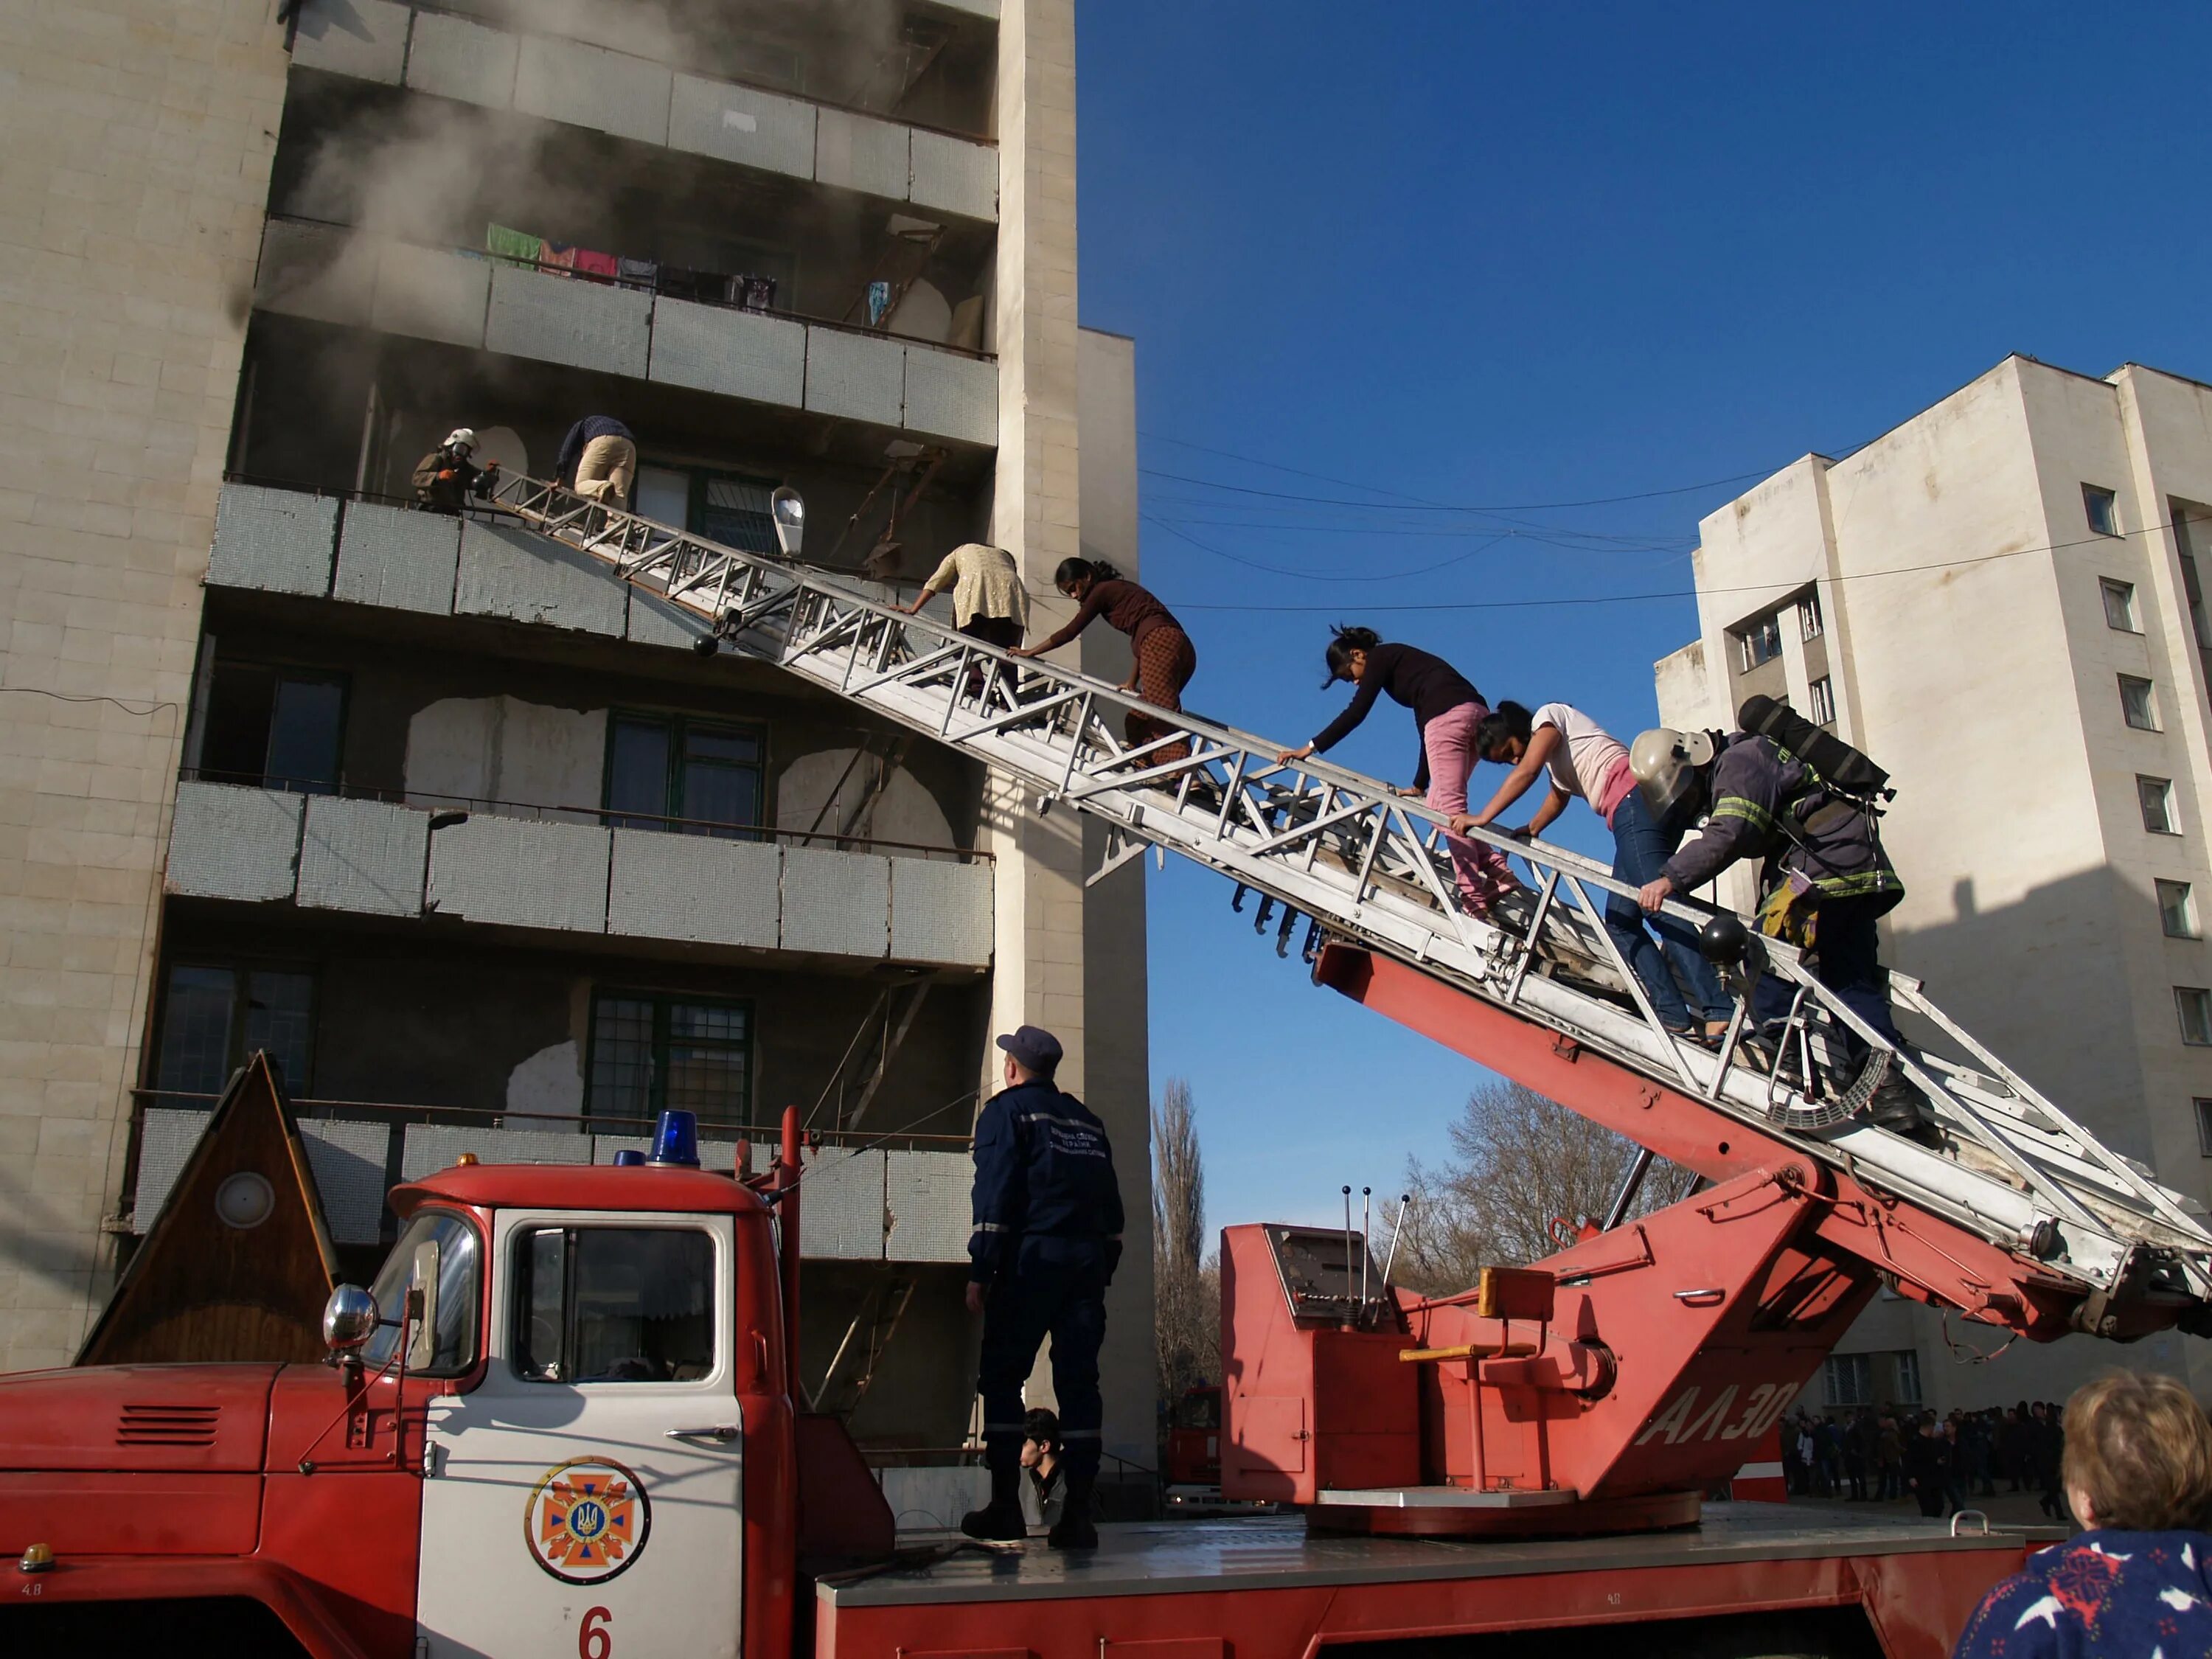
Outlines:
{"type": "MultiPolygon", "coordinates": [[[[991,31],[973,18],[995,15],[995,4],[945,4],[938,7],[945,15],[933,27],[920,24],[938,33],[922,51],[931,71],[951,69],[949,77],[938,75],[945,84],[925,88],[914,80],[894,91],[885,77],[825,75],[827,102],[794,95],[796,82],[807,75],[799,69],[779,73],[761,64],[759,55],[752,77],[721,80],[672,69],[635,51],[489,27],[478,18],[453,15],[460,9],[396,0],[307,0],[292,62],[327,75],[860,190],[885,201],[971,219],[998,217],[998,153],[967,135],[989,119],[995,73],[995,40],[987,40],[991,31]],[[781,86],[761,84],[770,80],[781,86]],[[914,124],[916,113],[931,115],[938,124],[914,124]],[[883,119],[885,115],[900,119],[883,119]],[[964,131],[945,131],[947,126],[964,131]]],[[[467,9],[498,11],[487,4],[467,9]]],[[[717,55],[712,46],[699,49],[672,38],[641,42],[639,35],[648,31],[613,11],[608,31],[624,46],[644,44],[661,58],[684,58],[690,66],[706,66],[717,55]]],[[[805,15],[796,7],[787,13],[805,15]]],[[[825,27],[834,31],[836,20],[825,27]]],[[[741,55],[741,42],[726,42],[721,55],[741,55]]],[[[783,55],[787,64],[834,64],[863,53],[854,40],[830,33],[812,51],[799,44],[783,55]]],[[[894,71],[887,80],[905,77],[894,71]]]]}

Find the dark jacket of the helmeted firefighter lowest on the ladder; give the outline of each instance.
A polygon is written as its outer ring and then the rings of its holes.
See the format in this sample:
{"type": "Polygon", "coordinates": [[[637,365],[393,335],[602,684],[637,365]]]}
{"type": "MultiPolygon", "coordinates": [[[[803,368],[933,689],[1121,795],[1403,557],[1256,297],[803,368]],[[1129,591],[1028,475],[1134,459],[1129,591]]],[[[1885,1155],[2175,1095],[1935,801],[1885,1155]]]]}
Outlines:
{"type": "Polygon", "coordinates": [[[1677,894],[1703,887],[1743,858],[1763,863],[1761,885],[1790,880],[1816,898],[1905,898],[1874,816],[1832,794],[1772,739],[1736,732],[1712,763],[1712,816],[1697,841],[1668,858],[1677,894]]]}

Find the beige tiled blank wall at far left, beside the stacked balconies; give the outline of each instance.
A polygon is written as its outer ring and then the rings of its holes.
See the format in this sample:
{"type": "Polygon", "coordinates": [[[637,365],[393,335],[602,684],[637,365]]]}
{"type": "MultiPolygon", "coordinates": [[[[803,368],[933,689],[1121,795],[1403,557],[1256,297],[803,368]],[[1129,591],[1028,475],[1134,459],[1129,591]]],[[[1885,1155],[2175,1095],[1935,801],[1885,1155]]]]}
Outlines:
{"type": "Polygon", "coordinates": [[[285,82],[270,0],[18,4],[7,38],[0,1369],[66,1363],[113,1270],[100,1219],[285,82]]]}

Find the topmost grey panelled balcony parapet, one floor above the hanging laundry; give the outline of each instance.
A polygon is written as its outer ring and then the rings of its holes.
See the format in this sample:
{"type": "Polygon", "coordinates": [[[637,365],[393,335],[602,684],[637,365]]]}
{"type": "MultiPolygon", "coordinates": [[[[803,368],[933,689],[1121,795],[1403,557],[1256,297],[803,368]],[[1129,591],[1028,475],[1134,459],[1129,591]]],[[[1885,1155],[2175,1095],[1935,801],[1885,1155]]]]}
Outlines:
{"type": "MultiPolygon", "coordinates": [[[[998,7],[953,4],[978,18],[998,7]]],[[[710,155],[887,201],[998,219],[998,148],[396,0],[307,0],[292,62],[493,111],[710,155]]]]}

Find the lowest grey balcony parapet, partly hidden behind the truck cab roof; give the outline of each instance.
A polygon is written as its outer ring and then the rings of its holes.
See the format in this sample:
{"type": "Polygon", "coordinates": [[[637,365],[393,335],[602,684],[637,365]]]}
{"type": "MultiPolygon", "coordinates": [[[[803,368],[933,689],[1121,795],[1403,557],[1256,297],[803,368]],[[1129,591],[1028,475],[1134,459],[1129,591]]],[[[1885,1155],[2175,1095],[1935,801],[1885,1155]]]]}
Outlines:
{"type": "MultiPolygon", "coordinates": [[[[206,1097],[142,1093],[135,1234],[161,1212],[212,1108],[206,1097]]],[[[294,1110],[323,1219],[338,1245],[378,1243],[387,1237],[385,1192],[451,1166],[462,1152],[484,1164],[613,1164],[615,1152],[644,1150],[648,1128],[367,1102],[301,1099],[294,1110]]],[[[763,1172],[772,1157],[770,1130],[752,1130],[752,1137],[750,1168],[763,1172]]],[[[801,1237],[810,1261],[967,1261],[975,1168],[964,1139],[909,1135],[902,1146],[869,1144],[872,1137],[860,1135],[827,1139],[805,1183],[801,1237]]],[[[734,1130],[701,1133],[701,1166],[728,1170],[734,1157],[734,1130]]]]}

